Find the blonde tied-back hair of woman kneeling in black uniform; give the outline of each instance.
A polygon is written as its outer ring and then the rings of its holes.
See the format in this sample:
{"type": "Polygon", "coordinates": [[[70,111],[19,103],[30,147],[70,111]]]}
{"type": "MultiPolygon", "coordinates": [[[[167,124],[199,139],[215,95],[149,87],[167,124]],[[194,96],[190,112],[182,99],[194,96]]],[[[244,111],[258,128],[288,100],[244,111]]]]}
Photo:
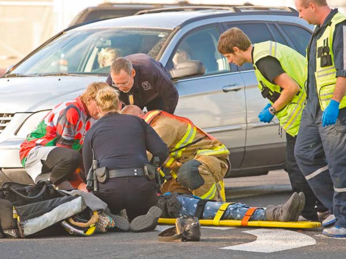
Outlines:
{"type": "Polygon", "coordinates": [[[100,118],[108,113],[119,113],[120,111],[119,93],[111,87],[99,90],[95,100],[100,118]]]}

